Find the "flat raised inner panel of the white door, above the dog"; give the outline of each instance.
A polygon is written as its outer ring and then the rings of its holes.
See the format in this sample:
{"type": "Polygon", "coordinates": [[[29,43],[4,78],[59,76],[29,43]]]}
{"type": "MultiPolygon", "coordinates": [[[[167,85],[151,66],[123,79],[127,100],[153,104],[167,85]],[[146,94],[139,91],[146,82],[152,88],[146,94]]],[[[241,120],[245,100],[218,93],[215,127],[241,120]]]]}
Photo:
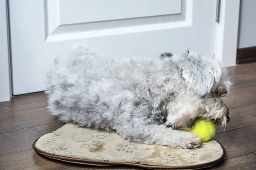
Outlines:
{"type": "Polygon", "coordinates": [[[64,25],[180,14],[181,0],[61,0],[58,9],[64,25]]]}

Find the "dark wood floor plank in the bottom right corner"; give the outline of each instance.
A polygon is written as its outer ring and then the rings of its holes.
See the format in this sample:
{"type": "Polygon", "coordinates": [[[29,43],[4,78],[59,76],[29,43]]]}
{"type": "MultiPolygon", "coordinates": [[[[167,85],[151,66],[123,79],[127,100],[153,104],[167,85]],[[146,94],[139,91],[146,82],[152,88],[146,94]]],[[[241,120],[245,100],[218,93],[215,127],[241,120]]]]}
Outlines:
{"type": "Polygon", "coordinates": [[[228,159],[220,164],[210,167],[209,170],[255,170],[256,155],[253,153],[228,159]]]}

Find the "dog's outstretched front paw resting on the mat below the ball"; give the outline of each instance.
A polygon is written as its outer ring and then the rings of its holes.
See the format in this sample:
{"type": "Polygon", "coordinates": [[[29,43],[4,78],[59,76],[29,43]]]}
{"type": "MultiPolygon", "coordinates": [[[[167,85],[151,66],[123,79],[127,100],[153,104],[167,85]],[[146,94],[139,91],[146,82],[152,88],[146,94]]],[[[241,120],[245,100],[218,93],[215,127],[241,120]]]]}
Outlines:
{"type": "Polygon", "coordinates": [[[183,149],[193,149],[199,147],[201,144],[201,137],[194,134],[189,133],[186,137],[183,138],[180,143],[180,147],[183,149]]]}

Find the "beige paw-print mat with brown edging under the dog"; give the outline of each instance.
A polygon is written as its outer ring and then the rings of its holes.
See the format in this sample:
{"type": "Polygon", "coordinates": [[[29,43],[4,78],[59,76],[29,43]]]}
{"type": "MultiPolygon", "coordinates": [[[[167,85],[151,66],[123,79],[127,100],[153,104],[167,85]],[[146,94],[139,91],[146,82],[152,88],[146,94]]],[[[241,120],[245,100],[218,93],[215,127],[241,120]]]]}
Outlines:
{"type": "Polygon", "coordinates": [[[36,152],[61,161],[93,165],[128,165],[152,169],[209,167],[225,157],[214,139],[192,150],[130,143],[116,133],[66,124],[33,143],[36,152]]]}

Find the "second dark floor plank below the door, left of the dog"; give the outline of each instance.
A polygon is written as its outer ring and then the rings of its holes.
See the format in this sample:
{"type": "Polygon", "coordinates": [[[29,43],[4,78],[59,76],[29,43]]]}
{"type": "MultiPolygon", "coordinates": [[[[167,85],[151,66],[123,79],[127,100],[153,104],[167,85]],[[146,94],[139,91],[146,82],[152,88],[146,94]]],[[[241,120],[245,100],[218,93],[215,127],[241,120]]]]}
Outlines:
{"type": "Polygon", "coordinates": [[[0,132],[56,122],[45,106],[0,114],[0,132]]]}

